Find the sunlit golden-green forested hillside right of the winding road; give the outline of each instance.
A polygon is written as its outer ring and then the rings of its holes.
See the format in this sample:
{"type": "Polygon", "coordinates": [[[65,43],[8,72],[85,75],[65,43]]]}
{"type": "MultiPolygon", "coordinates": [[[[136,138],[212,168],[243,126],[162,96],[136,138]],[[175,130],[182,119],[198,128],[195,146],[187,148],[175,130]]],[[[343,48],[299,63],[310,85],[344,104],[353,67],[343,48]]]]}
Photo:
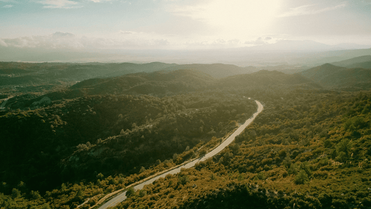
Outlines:
{"type": "Polygon", "coordinates": [[[370,92],[282,96],[217,157],[116,208],[370,208],[370,92]]]}

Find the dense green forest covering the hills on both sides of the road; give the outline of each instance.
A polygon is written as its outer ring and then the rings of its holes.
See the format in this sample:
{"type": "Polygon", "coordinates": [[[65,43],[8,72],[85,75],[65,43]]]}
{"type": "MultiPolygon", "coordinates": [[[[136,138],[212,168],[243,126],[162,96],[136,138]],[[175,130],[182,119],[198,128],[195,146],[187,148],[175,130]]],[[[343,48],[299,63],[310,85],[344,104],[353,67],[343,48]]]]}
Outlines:
{"type": "Polygon", "coordinates": [[[339,68],[220,79],[149,70],[10,91],[0,101],[0,208],[90,208],[123,188],[116,208],[371,208],[371,91],[342,82],[339,68]],[[323,85],[318,72],[339,82],[323,85]],[[228,148],[132,189],[212,150],[256,111],[253,100],[264,111],[228,148]]]}

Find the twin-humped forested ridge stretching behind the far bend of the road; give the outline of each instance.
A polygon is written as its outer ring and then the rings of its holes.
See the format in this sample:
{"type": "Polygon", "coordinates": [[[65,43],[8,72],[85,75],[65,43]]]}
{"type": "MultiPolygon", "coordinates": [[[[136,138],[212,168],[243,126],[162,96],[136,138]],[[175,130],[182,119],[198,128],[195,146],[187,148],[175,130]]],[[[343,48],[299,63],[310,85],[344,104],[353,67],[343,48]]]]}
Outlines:
{"type": "Polygon", "coordinates": [[[210,75],[195,70],[175,70],[140,72],[120,77],[87,79],[44,95],[24,94],[11,98],[6,107],[11,109],[35,109],[51,105],[57,100],[74,99],[87,95],[155,95],[164,97],[192,91],[212,91],[213,89],[246,88],[322,88],[315,82],[301,75],[287,75],[278,71],[260,70],[245,75],[235,75],[223,79],[214,79],[210,75]],[[50,100],[50,101],[49,101],[50,100]]]}

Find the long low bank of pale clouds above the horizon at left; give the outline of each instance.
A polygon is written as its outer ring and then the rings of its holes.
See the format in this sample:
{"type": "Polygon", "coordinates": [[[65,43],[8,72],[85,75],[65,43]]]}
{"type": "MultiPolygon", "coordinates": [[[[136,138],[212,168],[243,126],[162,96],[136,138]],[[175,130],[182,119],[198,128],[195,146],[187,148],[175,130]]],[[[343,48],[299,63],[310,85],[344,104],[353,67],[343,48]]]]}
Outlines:
{"type": "Polygon", "coordinates": [[[269,37],[260,37],[253,42],[228,38],[183,38],[171,34],[117,31],[101,37],[78,36],[58,31],[47,36],[26,36],[0,39],[3,47],[20,49],[71,49],[77,51],[100,51],[105,49],[221,49],[243,47],[245,44],[262,45],[271,42],[269,37]]]}

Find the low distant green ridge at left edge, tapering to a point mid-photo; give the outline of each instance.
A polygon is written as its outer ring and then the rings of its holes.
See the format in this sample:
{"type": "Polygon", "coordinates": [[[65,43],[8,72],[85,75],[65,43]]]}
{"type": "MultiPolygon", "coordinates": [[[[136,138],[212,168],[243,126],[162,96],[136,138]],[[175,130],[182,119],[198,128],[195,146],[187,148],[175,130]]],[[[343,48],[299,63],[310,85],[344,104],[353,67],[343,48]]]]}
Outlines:
{"type": "Polygon", "coordinates": [[[79,82],[93,77],[115,77],[135,72],[153,72],[173,65],[175,64],[0,62],[0,86],[79,82]]]}

